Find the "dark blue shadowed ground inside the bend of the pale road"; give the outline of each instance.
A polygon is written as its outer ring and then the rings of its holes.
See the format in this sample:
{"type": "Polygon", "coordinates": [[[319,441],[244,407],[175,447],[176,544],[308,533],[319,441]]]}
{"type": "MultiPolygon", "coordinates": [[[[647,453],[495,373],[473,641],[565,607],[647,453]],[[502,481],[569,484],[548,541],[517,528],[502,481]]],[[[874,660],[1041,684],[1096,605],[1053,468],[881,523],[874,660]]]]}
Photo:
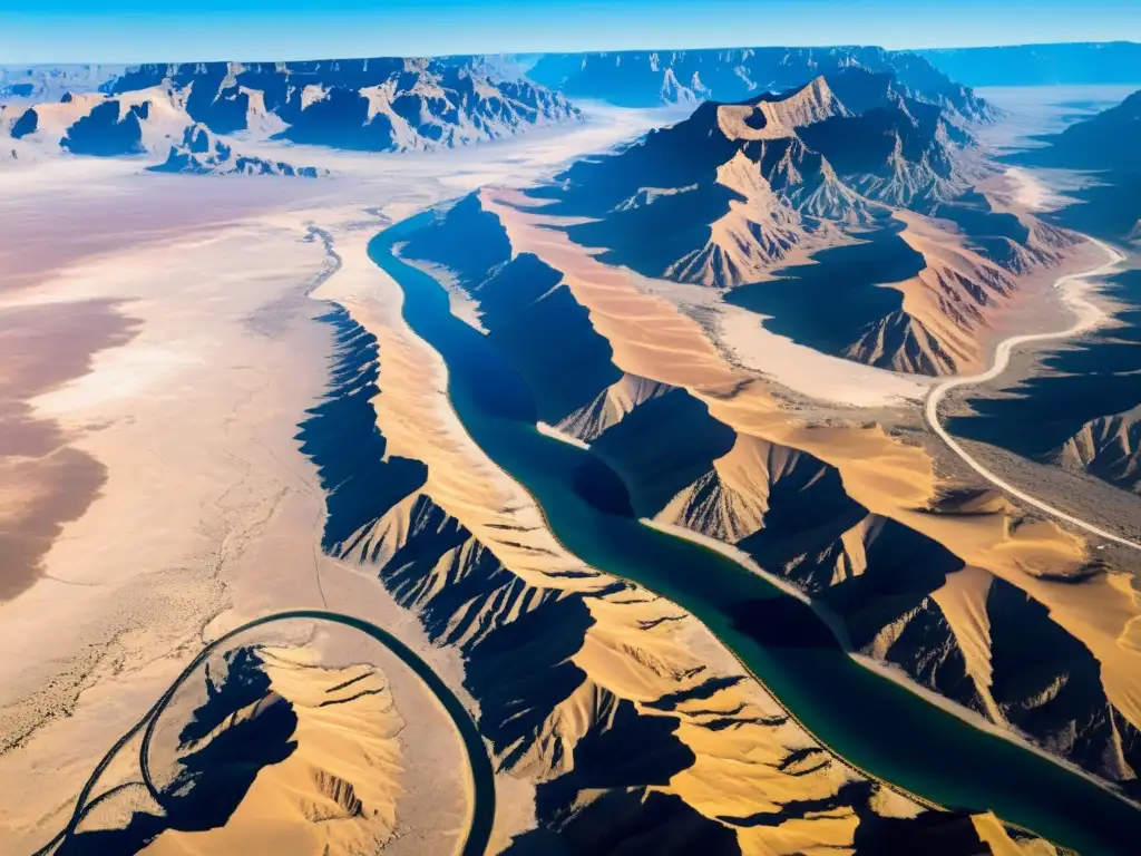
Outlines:
{"type": "Polygon", "coordinates": [[[946,420],[947,430],[1045,461],[1091,419],[1141,404],[1141,270],[1110,277],[1103,293],[1133,307],[1117,315],[1125,326],[1046,352],[1042,377],[969,399],[976,414],[946,420]]]}

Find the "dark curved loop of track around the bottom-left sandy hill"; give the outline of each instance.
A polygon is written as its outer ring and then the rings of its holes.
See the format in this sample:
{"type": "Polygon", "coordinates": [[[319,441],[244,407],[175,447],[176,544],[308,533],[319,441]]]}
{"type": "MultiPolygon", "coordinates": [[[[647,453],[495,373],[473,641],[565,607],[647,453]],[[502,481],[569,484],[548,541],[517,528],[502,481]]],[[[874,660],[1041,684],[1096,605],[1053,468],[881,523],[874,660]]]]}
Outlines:
{"type": "Polygon", "coordinates": [[[138,735],[140,730],[144,729],[143,742],[139,748],[139,769],[143,776],[143,784],[146,786],[155,802],[163,806],[163,794],[154,786],[154,783],[151,780],[148,756],[151,738],[154,734],[154,729],[157,726],[163,711],[167,709],[167,705],[170,703],[170,700],[175,697],[179,687],[181,687],[181,685],[197,670],[200,665],[202,665],[203,662],[205,662],[211,654],[234,637],[264,624],[277,621],[290,621],[294,619],[329,621],[334,624],[343,624],[353,628],[354,630],[359,630],[379,641],[393,654],[399,657],[400,661],[411,668],[428,686],[428,689],[431,691],[437,701],[439,701],[440,705],[444,708],[445,712],[447,712],[447,714],[452,718],[452,721],[455,724],[455,728],[460,733],[461,742],[463,743],[464,752],[468,756],[468,785],[471,793],[471,805],[468,810],[467,835],[464,837],[458,854],[459,856],[483,856],[487,849],[488,840],[491,839],[492,821],[495,816],[495,773],[492,767],[491,758],[487,756],[483,737],[479,735],[479,730],[472,721],[471,716],[468,713],[467,708],[463,706],[463,703],[455,696],[454,693],[452,693],[443,679],[436,675],[432,668],[428,665],[428,663],[426,663],[420,655],[413,652],[408,646],[389,633],[387,630],[377,627],[371,622],[364,621],[363,619],[356,619],[351,615],[345,615],[342,613],[331,612],[327,609],[290,609],[286,612],[273,613],[272,615],[264,615],[260,619],[249,621],[245,624],[236,627],[229,632],[219,636],[200,651],[197,656],[195,656],[194,660],[186,665],[170,687],[167,688],[167,692],[159,697],[159,701],[156,701],[154,705],[143,714],[143,718],[139,719],[138,722],[136,722],[115,742],[103,759],[96,765],[75,800],[75,809],[72,813],[72,817],[67,822],[67,825],[56,833],[56,835],[47,845],[37,850],[34,856],[48,856],[48,854],[55,853],[58,847],[65,845],[67,839],[75,834],[79,824],[82,822],[83,817],[87,816],[88,811],[90,811],[90,809],[99,803],[104,798],[122,788],[114,788],[107,793],[100,794],[95,799],[91,798],[91,792],[99,783],[99,778],[114,760],[115,756],[118,756],[123,746],[126,746],[135,736],[138,735]]]}

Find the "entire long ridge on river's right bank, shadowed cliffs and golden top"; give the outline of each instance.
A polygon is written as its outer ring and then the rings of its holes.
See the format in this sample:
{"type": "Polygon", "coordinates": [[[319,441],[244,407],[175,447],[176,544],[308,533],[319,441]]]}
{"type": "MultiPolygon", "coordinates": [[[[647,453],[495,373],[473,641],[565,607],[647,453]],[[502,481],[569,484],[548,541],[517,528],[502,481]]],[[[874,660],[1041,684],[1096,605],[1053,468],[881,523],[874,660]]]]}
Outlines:
{"type": "Polygon", "coordinates": [[[1139,663],[1122,640],[1138,606],[1108,556],[937,477],[879,427],[806,425],[572,243],[573,220],[528,205],[470,196],[403,252],[452,266],[539,418],[621,475],[628,514],[733,544],[836,615],[855,651],[1133,786],[1139,663]]]}

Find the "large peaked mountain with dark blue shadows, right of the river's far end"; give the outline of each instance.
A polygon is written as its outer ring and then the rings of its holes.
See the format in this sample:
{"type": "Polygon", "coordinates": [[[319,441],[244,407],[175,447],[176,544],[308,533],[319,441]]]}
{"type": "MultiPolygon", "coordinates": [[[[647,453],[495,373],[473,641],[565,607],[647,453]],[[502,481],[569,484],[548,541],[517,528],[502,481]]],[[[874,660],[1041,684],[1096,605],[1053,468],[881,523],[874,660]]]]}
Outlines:
{"type": "Polygon", "coordinates": [[[896,371],[965,371],[1014,277],[1074,239],[973,193],[989,169],[974,138],[953,107],[909,91],[849,65],[780,95],[705,102],[532,195],[578,218],[567,234],[600,260],[727,291],[795,341],[896,371]],[[820,252],[851,272],[826,308],[807,298],[831,288],[820,252]]]}

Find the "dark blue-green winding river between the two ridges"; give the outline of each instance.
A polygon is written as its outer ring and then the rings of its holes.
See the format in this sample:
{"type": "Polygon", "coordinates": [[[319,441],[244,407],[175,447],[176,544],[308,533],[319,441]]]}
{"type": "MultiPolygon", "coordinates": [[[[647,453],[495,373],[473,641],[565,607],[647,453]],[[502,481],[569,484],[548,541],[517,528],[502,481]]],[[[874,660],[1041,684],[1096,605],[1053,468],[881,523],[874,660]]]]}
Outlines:
{"type": "Polygon", "coordinates": [[[696,615],[819,742],[869,776],[940,806],[994,810],[1086,856],[1136,853],[1132,803],[858,665],[809,606],[737,563],[589,501],[590,485],[605,490],[617,475],[540,434],[523,379],[452,315],[436,280],[394,255],[429,216],[378,235],[370,256],[403,290],[405,321],[447,364],[468,433],[531,491],[568,549],[696,615]]]}

